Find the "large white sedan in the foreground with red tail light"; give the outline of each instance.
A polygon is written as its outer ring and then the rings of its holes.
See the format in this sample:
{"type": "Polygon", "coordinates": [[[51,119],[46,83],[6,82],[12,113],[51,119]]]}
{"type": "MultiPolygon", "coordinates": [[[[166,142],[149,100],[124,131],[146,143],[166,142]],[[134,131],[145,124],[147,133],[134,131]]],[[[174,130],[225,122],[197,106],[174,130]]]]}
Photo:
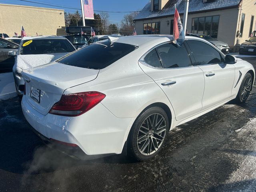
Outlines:
{"type": "Polygon", "coordinates": [[[128,152],[148,160],[168,131],[235,99],[245,102],[253,66],[186,36],[109,38],[23,70],[22,110],[45,142],[80,159],[128,152]]]}

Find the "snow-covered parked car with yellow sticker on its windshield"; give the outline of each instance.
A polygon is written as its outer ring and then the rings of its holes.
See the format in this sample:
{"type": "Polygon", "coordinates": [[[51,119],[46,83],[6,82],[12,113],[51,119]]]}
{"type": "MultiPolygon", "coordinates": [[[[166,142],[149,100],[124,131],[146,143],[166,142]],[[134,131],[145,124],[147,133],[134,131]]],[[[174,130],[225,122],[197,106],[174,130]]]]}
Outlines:
{"type": "Polygon", "coordinates": [[[16,56],[12,68],[18,95],[23,95],[24,80],[22,70],[48,64],[76,48],[62,36],[27,36],[22,39],[18,51],[10,51],[9,56],[16,56]]]}

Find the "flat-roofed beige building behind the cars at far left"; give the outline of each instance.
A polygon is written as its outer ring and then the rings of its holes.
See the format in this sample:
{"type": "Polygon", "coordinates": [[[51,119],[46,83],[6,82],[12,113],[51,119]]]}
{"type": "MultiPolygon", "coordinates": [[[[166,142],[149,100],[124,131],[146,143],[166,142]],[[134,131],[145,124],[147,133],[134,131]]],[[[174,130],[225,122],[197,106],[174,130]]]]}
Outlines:
{"type": "Polygon", "coordinates": [[[64,10],[0,4],[0,33],[20,35],[21,25],[28,36],[56,35],[57,28],[65,26],[64,10]]]}

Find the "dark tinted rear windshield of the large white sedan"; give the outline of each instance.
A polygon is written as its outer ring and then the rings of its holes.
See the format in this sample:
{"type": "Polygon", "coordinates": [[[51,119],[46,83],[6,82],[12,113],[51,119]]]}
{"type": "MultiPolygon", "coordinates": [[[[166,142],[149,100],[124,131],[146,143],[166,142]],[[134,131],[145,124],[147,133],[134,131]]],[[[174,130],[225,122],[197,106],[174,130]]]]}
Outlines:
{"type": "Polygon", "coordinates": [[[124,43],[96,42],[57,60],[62,64],[103,69],[136,49],[136,46],[124,43]]]}

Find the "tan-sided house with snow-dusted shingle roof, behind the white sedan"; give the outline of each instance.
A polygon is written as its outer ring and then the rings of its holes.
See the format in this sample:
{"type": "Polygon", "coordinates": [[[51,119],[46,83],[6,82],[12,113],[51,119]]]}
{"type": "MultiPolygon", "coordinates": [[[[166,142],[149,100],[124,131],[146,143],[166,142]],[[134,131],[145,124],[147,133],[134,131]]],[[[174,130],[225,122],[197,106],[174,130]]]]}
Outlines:
{"type": "MultiPolygon", "coordinates": [[[[172,34],[174,4],[183,18],[184,0],[151,0],[135,18],[137,34],[172,34]]],[[[206,34],[234,51],[256,30],[256,0],[190,0],[188,33],[206,34]]]]}

